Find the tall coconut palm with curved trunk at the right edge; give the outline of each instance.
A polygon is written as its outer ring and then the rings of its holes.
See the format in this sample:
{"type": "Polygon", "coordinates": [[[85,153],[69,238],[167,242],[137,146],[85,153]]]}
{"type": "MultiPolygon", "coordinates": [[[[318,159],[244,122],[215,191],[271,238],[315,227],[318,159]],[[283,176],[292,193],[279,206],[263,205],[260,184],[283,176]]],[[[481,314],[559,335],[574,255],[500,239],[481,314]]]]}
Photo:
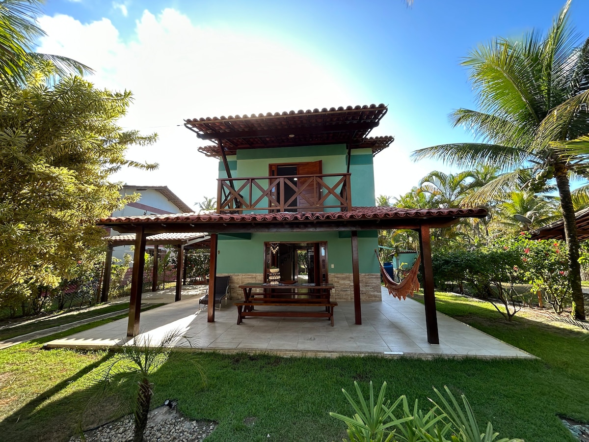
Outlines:
{"type": "Polygon", "coordinates": [[[578,41],[568,24],[570,2],[545,36],[534,31],[517,39],[495,38],[462,61],[469,68],[480,110],[459,109],[451,118],[454,126],[468,127],[481,143],[442,144],[412,156],[416,160],[434,157],[462,167],[494,164],[511,171],[483,186],[479,195],[497,194],[509,186],[514,189],[524,169],[535,172],[528,184],[535,192],[554,177],[570,259],[574,316],[584,319],[569,177],[589,176],[589,165],[584,157],[559,150],[565,141],[589,134],[589,38],[578,41]]]}

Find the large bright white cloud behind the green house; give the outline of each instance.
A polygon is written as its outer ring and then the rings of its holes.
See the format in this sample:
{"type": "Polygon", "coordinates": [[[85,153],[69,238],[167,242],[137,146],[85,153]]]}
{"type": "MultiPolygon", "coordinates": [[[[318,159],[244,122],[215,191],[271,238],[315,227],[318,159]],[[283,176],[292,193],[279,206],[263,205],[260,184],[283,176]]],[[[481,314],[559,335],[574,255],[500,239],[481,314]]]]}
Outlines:
{"type": "MultiPolygon", "coordinates": [[[[98,87],[133,91],[134,104],[121,124],[159,134],[154,146],[133,148],[128,157],[157,161],[160,169],[123,170],[115,179],[166,185],[190,205],[216,195],[217,161],[198,153],[197,147],[207,143],[183,127],[185,118],[372,103],[361,92],[362,84],[345,84],[349,72],[341,74],[271,36],[195,25],[175,9],[158,15],[145,10],[126,39],[107,18],[81,24],[66,15],[45,16],[39,25],[48,34],[40,52],[67,55],[94,68],[88,79],[98,87]]],[[[393,149],[394,143],[388,150],[393,149]]],[[[384,154],[377,162],[391,157],[384,154]]],[[[408,169],[415,175],[413,166],[408,169]]],[[[408,190],[411,186],[403,182],[415,182],[415,176],[391,177],[390,170],[385,176],[388,186],[377,179],[377,193],[396,195],[385,187],[408,190]]]]}

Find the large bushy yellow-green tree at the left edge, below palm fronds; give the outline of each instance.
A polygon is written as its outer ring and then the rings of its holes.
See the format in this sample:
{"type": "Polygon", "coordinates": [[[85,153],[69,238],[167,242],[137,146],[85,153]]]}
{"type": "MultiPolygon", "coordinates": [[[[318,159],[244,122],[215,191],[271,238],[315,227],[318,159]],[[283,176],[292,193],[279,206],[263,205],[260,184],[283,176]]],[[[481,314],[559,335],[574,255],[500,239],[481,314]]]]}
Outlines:
{"type": "Polygon", "coordinates": [[[157,167],[124,157],[155,140],[117,126],[131,101],[128,91],[80,77],[0,84],[0,293],[16,283],[55,286],[104,250],[95,221],[138,197],[121,197],[108,178],[123,166],[157,167]]]}

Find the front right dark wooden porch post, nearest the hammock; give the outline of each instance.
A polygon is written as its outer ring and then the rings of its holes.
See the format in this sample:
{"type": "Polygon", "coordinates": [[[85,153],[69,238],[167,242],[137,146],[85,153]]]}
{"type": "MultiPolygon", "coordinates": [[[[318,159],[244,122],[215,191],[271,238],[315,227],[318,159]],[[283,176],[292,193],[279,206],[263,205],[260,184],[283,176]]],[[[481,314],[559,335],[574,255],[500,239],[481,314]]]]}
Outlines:
{"type": "Polygon", "coordinates": [[[423,302],[425,304],[425,326],[428,342],[439,344],[438,317],[436,316],[436,298],[434,293],[434,269],[432,268],[432,246],[429,237],[429,225],[419,226],[419,248],[423,275],[423,302]]]}

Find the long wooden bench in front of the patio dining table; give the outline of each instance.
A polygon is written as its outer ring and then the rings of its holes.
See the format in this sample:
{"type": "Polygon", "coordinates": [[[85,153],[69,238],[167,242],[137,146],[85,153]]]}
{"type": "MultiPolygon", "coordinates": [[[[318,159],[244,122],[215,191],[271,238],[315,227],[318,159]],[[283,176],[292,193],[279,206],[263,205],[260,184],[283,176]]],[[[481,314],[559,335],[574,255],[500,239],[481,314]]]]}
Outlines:
{"type": "Polygon", "coordinates": [[[249,302],[234,302],[237,306],[237,324],[246,316],[282,316],[297,318],[327,318],[333,327],[333,308],[337,302],[327,302],[325,299],[293,299],[293,298],[252,298],[249,302]],[[290,311],[290,310],[254,310],[264,306],[301,306],[325,307],[325,311],[290,311]]]}

